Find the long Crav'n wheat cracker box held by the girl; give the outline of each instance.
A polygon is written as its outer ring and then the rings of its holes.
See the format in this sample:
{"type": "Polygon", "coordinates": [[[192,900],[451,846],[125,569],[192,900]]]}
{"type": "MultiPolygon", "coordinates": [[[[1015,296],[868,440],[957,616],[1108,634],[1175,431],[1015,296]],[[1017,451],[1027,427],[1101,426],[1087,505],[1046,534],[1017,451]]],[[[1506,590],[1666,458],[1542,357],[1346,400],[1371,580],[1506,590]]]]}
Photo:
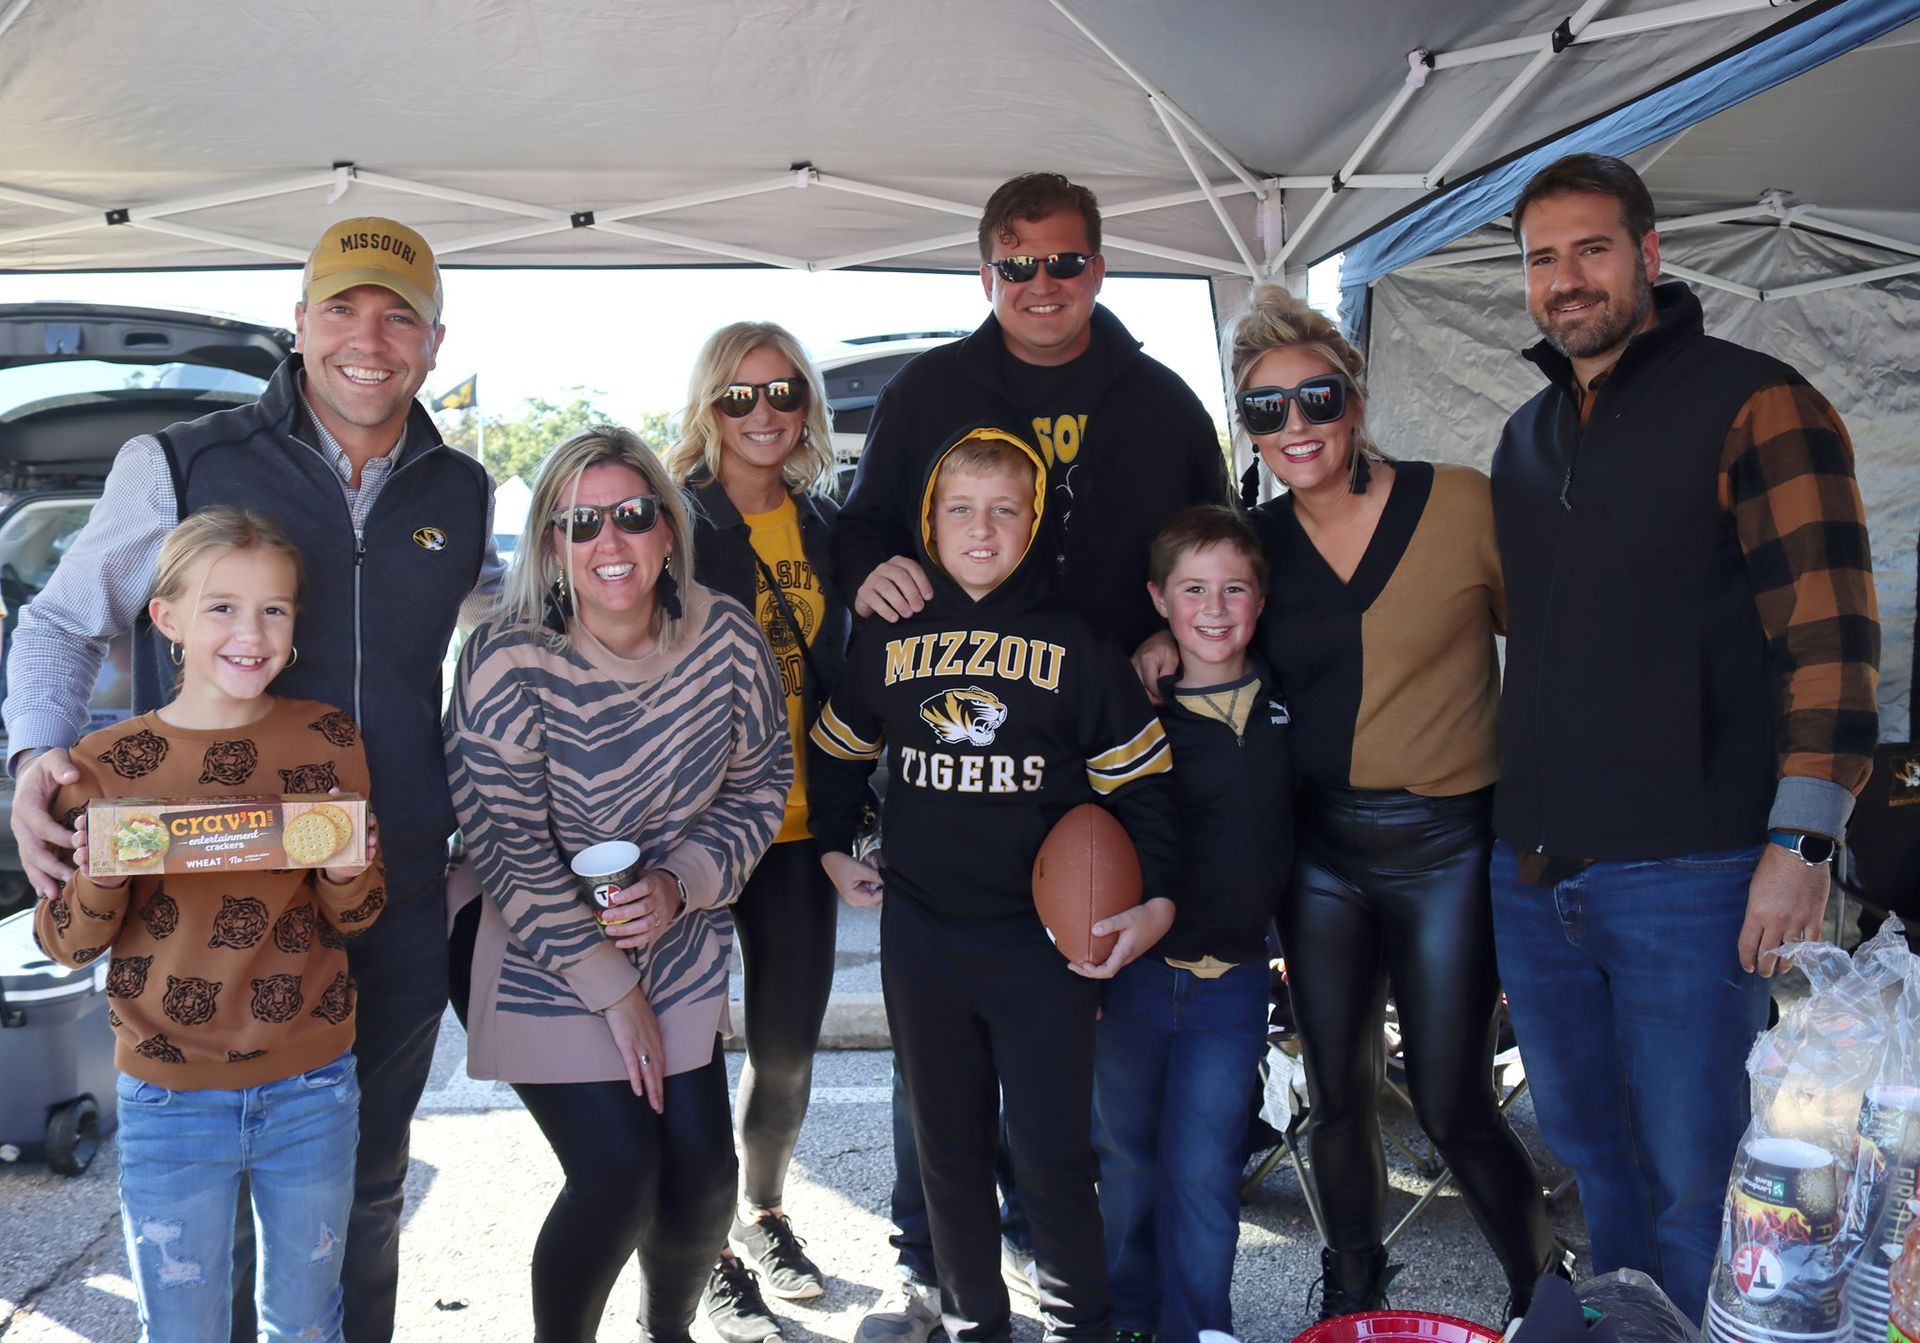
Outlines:
{"type": "Polygon", "coordinates": [[[367,861],[359,794],[86,803],[86,874],[234,872],[367,861]]]}

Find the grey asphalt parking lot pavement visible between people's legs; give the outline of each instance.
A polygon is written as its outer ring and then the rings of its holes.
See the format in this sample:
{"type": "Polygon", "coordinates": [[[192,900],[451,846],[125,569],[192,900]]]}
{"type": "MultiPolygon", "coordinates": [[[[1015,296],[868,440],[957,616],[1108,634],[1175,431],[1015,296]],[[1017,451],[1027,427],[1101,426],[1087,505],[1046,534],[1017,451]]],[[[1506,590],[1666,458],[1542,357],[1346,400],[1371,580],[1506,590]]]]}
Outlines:
{"type": "MultiPolygon", "coordinates": [[[[828,1274],[824,1297],[776,1303],[791,1343],[849,1339],[891,1278],[887,1191],[891,1155],[891,1055],[879,1014],[877,920],[843,911],[839,974],[814,1099],[795,1155],[787,1212],[808,1255],[828,1274]],[[881,1045],[881,1047],[872,1047],[881,1045]]],[[[733,1076],[739,1055],[730,1055],[733,1076]]],[[[1523,1095],[1509,1111],[1553,1185],[1523,1095]]],[[[1382,1101],[1388,1128],[1423,1149],[1411,1114],[1382,1101]]],[[[1388,1224],[1405,1212],[1427,1176],[1388,1147],[1388,1224]]],[[[6,1343],[119,1343],[138,1337],[134,1293],[115,1203],[111,1145],[75,1180],[44,1166],[0,1166],[0,1339],[6,1343]]],[[[532,1337],[528,1262],[559,1164],[501,1084],[465,1076],[465,1041],[447,1014],[426,1099],[413,1128],[413,1172],[401,1237],[399,1330],[405,1343],[492,1343],[532,1337]]],[[[1551,1205],[1555,1230],[1584,1249],[1574,1195],[1551,1205]]],[[[1457,1191],[1444,1189],[1394,1247],[1405,1270],[1394,1303],[1498,1324],[1505,1282],[1457,1191]]],[[[1584,1257],[1582,1257],[1584,1262],[1584,1257]]],[[[1235,1324],[1248,1343],[1283,1343],[1313,1320],[1308,1289],[1319,1274],[1319,1241],[1300,1184],[1283,1162],[1252,1191],[1240,1220],[1235,1324]]],[[[601,1339],[637,1339],[637,1274],[614,1287],[601,1339]]],[[[1016,1299],[1018,1343],[1037,1343],[1039,1318],[1016,1299]]],[[[697,1322],[695,1337],[718,1343],[697,1322]]]]}

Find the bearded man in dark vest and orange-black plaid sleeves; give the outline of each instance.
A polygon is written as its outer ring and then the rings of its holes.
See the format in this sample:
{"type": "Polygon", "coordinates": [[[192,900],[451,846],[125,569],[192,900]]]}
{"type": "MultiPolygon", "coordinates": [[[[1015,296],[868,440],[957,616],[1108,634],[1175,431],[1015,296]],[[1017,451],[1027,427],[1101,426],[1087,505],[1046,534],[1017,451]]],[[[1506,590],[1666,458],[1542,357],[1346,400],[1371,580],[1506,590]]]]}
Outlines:
{"type": "Polygon", "coordinates": [[[1697,1322],[1766,976],[1818,936],[1878,740],[1866,521],[1834,407],[1653,282],[1632,167],[1551,163],[1513,232],[1548,386],[1492,471],[1500,972],[1594,1270],[1697,1322]]]}

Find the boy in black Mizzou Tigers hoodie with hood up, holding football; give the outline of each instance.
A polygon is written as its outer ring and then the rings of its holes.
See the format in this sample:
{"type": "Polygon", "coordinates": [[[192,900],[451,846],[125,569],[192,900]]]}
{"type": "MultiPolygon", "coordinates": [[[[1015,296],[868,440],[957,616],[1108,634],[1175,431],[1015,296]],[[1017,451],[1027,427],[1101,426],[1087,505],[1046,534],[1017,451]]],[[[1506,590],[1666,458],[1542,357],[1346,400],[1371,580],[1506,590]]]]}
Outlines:
{"type": "Polygon", "coordinates": [[[945,1322],[1006,1339],[995,1203],[1004,1103],[1033,1226],[1048,1337],[1106,1337],[1112,1299],[1091,1135],[1098,980],[1173,920],[1177,842],[1165,734],[1121,651],[1046,596],[1033,561],[1046,471],[1016,434],[975,428],[922,488],[935,596],[868,621],[812,730],[808,807],[849,903],[876,903],[895,1061],[920,1147],[945,1322]],[[862,784],[887,751],[879,870],[849,855],[862,784]],[[1102,965],[1068,965],[1033,909],[1033,857],[1100,801],[1140,855],[1146,901],[1102,965]]]}

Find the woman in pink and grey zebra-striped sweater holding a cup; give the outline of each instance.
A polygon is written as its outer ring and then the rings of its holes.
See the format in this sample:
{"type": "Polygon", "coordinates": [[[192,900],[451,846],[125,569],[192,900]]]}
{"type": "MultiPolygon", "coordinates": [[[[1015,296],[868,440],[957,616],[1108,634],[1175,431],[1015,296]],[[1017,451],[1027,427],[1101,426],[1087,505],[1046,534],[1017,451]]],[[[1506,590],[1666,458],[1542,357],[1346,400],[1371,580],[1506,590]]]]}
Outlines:
{"type": "Polygon", "coordinates": [[[486,893],[453,924],[467,1070],[513,1084],[566,1174],[534,1247],[541,1343],[593,1339],[634,1247],[647,1335],[687,1339],[733,1210],[728,905],[780,828],[793,749],[766,638],[691,580],[691,553],[645,442],[570,438],[447,713],[486,893]],[[568,868],[603,840],[643,865],[605,922],[568,868]]]}

